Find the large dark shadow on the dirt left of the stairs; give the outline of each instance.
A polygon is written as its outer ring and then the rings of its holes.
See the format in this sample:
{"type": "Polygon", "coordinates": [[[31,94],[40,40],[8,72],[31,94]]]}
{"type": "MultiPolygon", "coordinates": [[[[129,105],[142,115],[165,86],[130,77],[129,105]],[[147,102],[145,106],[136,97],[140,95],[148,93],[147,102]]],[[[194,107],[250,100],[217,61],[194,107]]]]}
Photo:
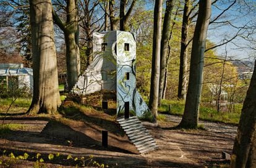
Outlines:
{"type": "Polygon", "coordinates": [[[48,143],[52,145],[73,146],[92,150],[132,153],[130,151],[117,148],[116,146],[108,145],[108,148],[103,148],[101,141],[88,137],[82,132],[76,131],[58,121],[49,121],[41,133],[30,131],[11,131],[9,134],[2,136],[2,138],[26,143],[48,143]]]}

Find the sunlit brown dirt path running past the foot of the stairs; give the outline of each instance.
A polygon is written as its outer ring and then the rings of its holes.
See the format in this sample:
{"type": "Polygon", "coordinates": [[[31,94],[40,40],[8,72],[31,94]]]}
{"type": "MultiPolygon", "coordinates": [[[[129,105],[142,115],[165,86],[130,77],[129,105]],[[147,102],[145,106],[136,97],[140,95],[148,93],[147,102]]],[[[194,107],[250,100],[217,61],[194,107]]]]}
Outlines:
{"type": "MultiPolygon", "coordinates": [[[[60,138],[41,134],[42,127],[37,127],[38,130],[32,129],[32,132],[14,132],[10,137],[0,138],[0,148],[32,153],[59,152],[74,156],[93,154],[96,161],[109,164],[111,167],[213,167],[227,162],[222,159],[221,151],[231,153],[236,126],[200,121],[205,130],[177,130],[173,127],[177,126],[181,118],[166,115],[166,119],[168,122],[160,122],[160,127],[147,127],[159,146],[158,150],[148,154],[123,153],[116,150],[108,151],[108,149],[97,150],[87,146],[69,146],[60,138]]],[[[19,122],[32,124],[32,128],[33,124],[42,126],[45,123],[43,121],[12,121],[12,123],[19,122]]],[[[70,126],[70,129],[82,132],[75,125],[74,128],[70,126]]]]}

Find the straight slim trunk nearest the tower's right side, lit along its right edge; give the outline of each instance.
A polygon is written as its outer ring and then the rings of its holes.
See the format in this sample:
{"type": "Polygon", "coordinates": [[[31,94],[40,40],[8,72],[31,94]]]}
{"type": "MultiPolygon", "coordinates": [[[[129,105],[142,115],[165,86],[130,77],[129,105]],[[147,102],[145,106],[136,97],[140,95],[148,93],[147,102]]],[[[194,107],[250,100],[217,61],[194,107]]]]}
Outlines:
{"type": "Polygon", "coordinates": [[[155,1],[154,9],[154,32],[153,32],[153,52],[151,65],[150,98],[148,106],[155,117],[158,116],[158,89],[160,79],[160,49],[161,49],[161,17],[163,0],[155,1]]]}

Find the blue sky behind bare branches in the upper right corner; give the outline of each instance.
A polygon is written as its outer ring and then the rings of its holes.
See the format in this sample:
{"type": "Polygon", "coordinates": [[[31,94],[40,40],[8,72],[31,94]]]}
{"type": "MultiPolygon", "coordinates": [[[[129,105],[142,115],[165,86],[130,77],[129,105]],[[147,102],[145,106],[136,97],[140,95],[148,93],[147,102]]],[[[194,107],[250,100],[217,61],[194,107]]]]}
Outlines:
{"type": "MultiPolygon", "coordinates": [[[[212,6],[211,20],[221,14],[224,9],[227,9],[232,2],[233,1],[223,0],[216,3],[215,6],[212,6]]],[[[256,48],[256,43],[246,41],[242,36],[247,36],[254,40],[256,39],[256,1],[247,0],[245,2],[246,4],[242,0],[237,1],[234,6],[218,19],[218,22],[229,21],[233,26],[236,26],[236,28],[227,23],[209,25],[208,39],[215,42],[215,44],[221,44],[238,34],[238,36],[227,45],[216,48],[217,54],[222,57],[226,55],[227,50],[227,56],[233,59],[255,60],[256,52],[254,49],[256,48]],[[252,29],[249,27],[252,27],[252,29]],[[248,47],[254,47],[254,49],[248,49],[248,47]]]]}

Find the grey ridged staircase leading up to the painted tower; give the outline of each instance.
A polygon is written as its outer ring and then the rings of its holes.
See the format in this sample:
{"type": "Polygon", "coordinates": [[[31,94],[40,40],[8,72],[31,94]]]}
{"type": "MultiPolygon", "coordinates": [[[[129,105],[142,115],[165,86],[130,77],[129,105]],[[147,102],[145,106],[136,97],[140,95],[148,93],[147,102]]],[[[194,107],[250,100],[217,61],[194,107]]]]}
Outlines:
{"type": "Polygon", "coordinates": [[[117,122],[140,153],[148,153],[158,148],[154,138],[136,116],[129,119],[117,118],[117,122]]]}

